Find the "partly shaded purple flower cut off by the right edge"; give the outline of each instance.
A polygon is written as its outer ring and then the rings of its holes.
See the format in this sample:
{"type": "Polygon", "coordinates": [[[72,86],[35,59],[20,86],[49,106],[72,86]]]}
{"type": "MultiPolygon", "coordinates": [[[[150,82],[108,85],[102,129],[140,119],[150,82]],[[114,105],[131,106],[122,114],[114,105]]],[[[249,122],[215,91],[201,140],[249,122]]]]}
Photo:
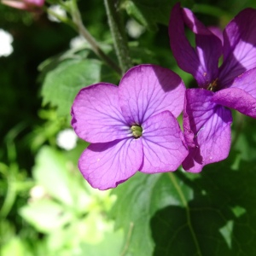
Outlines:
{"type": "Polygon", "coordinates": [[[191,73],[200,87],[185,93],[183,128],[189,155],[183,168],[201,172],[230,152],[228,108],[256,118],[256,10],[241,11],[219,35],[176,4],[169,35],[178,66],[191,73]],[[195,48],[185,37],[184,25],[195,33],[195,48]],[[223,63],[218,67],[221,55],[223,63]]]}

